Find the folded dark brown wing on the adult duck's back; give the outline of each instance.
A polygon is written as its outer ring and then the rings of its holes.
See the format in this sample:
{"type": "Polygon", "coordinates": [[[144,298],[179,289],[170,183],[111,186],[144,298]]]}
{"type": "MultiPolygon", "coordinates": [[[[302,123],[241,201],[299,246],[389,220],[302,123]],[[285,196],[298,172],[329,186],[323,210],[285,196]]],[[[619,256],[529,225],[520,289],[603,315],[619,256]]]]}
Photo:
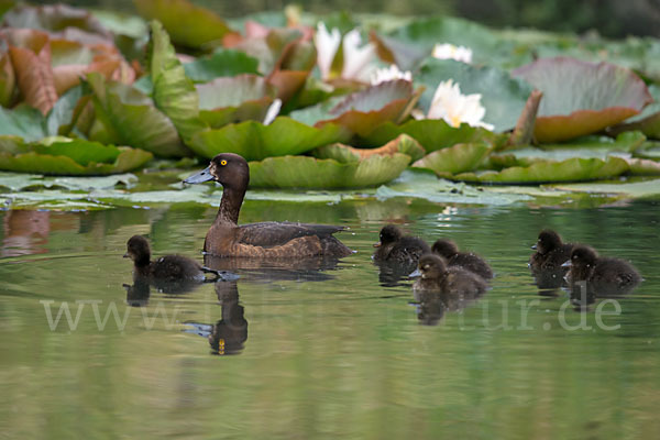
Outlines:
{"type": "Polygon", "coordinates": [[[343,227],[266,221],[239,227],[238,241],[254,246],[278,246],[299,237],[324,238],[343,230],[343,227]]]}

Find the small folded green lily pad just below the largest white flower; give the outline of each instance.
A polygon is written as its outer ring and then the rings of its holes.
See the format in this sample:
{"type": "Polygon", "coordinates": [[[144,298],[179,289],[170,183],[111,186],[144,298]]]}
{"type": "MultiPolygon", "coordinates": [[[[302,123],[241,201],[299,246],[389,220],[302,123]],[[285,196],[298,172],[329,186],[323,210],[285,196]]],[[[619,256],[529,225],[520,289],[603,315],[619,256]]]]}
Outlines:
{"type": "Polygon", "coordinates": [[[493,150],[488,144],[455,144],[432,152],[413,164],[415,168],[428,168],[438,175],[459,174],[476,169],[493,150]]]}

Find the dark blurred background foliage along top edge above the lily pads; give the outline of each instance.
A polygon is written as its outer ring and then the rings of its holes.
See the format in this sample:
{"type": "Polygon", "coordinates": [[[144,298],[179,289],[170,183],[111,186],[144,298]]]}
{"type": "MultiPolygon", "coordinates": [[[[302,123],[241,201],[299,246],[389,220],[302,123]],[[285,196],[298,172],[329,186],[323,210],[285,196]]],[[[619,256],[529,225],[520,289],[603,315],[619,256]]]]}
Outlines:
{"type": "MultiPolygon", "coordinates": [[[[44,1],[43,3],[56,3],[44,1]]],[[[226,18],[282,11],[290,3],[315,13],[351,11],[404,15],[450,14],[495,28],[556,32],[596,31],[603,36],[660,36],[660,0],[210,0],[194,1],[226,18]]],[[[135,12],[131,0],[74,0],[70,6],[135,12]]]]}

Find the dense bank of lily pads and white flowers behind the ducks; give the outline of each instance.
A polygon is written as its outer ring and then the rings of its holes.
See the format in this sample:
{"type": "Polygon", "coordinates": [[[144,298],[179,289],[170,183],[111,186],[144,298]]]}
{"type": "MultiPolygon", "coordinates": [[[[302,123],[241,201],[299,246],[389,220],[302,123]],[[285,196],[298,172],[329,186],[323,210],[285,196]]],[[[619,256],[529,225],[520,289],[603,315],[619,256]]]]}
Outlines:
{"type": "Polygon", "coordinates": [[[660,174],[652,38],[290,8],[230,22],[162,3],[136,0],[141,18],[6,12],[0,168],[102,175],[233,152],[255,167],[253,186],[273,188],[377,186],[410,166],[472,184],[660,174]],[[56,148],[52,136],[64,136],[56,148]]]}

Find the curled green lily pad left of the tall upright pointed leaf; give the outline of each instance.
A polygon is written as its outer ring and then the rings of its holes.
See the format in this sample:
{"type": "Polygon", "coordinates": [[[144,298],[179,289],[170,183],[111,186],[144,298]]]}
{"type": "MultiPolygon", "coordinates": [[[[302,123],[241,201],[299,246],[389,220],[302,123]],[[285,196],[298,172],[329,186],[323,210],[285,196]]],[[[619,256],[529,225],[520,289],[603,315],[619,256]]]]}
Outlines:
{"type": "Polygon", "coordinates": [[[106,84],[100,74],[89,74],[97,120],[110,142],[146,150],[157,156],[189,155],[172,121],[143,92],[120,82],[106,84]]]}

